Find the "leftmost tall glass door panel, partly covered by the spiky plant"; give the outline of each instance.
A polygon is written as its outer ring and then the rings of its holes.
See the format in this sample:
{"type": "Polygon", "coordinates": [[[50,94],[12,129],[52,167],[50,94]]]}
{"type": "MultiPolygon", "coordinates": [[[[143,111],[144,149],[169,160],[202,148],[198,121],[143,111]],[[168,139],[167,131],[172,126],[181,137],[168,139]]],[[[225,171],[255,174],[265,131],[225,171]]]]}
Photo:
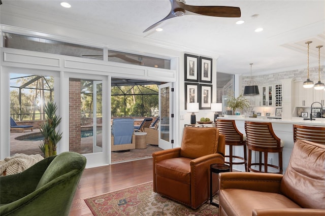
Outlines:
{"type": "Polygon", "coordinates": [[[10,129],[10,155],[40,154],[44,157],[40,149],[44,136],[39,128],[46,120],[45,105],[54,100],[54,77],[28,72],[21,70],[21,74],[9,75],[10,117],[13,124],[23,125],[10,129]]]}

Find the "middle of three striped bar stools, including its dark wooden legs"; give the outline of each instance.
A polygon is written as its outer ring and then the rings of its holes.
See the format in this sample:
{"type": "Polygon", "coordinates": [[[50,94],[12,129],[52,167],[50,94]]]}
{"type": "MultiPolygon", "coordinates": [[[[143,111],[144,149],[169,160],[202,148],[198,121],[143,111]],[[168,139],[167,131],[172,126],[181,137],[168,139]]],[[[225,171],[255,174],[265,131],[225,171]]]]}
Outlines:
{"type": "Polygon", "coordinates": [[[247,171],[262,172],[262,166],[264,166],[264,172],[268,172],[268,167],[273,167],[279,170],[282,169],[282,150],[283,141],[277,137],[273,131],[271,122],[245,122],[246,132],[246,145],[248,148],[248,162],[247,171]],[[252,151],[259,153],[259,162],[252,163],[252,151]],[[262,163],[262,153],[264,153],[264,163],[262,163]],[[278,153],[279,165],[268,164],[268,153],[278,153]],[[252,168],[251,166],[259,166],[259,170],[252,168]]]}

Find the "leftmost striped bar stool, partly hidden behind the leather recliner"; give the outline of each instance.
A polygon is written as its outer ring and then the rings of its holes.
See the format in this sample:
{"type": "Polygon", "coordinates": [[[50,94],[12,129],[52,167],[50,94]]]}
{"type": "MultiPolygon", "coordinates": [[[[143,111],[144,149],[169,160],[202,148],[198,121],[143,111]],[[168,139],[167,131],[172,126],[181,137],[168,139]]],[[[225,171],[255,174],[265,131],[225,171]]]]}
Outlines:
{"type": "Polygon", "coordinates": [[[225,161],[224,163],[230,165],[231,172],[233,171],[234,164],[244,164],[245,170],[247,170],[246,136],[237,129],[235,120],[217,119],[216,123],[219,134],[225,135],[225,145],[229,146],[229,155],[224,156],[229,158],[229,162],[225,161]],[[233,146],[242,146],[244,157],[233,155],[233,146]],[[240,159],[240,161],[234,162],[234,158],[240,159]]]}

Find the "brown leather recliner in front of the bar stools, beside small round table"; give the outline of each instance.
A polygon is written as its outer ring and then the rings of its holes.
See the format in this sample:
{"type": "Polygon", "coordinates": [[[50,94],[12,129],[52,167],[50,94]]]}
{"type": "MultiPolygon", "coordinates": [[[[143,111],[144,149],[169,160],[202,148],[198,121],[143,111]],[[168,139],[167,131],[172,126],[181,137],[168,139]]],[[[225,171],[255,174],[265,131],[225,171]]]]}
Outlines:
{"type": "MultiPolygon", "coordinates": [[[[224,145],[216,128],[185,127],[180,148],[152,154],[153,191],[198,208],[210,197],[210,164],[224,163],[224,145]]],[[[214,184],[213,194],[217,190],[214,184]]]]}

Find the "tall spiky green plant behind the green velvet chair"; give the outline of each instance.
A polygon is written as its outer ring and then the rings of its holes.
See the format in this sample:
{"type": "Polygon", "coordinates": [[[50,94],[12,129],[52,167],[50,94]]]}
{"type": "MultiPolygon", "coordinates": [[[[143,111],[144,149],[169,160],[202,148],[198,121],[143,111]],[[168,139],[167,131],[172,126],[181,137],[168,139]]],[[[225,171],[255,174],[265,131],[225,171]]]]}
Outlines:
{"type": "Polygon", "coordinates": [[[41,125],[41,133],[44,136],[40,149],[45,158],[56,155],[56,144],[62,138],[62,133],[56,131],[56,127],[61,122],[61,117],[56,115],[57,106],[53,101],[45,105],[46,121],[41,125]]]}

